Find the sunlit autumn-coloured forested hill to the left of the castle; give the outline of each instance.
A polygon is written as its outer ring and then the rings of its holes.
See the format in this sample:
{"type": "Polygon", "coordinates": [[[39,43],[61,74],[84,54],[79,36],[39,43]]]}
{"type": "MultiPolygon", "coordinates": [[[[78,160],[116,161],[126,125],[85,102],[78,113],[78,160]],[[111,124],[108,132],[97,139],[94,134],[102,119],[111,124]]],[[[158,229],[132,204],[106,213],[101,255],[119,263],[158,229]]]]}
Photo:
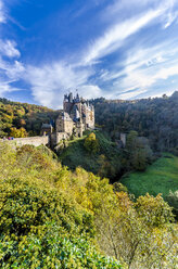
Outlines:
{"type": "Polygon", "coordinates": [[[38,136],[42,123],[50,123],[56,116],[56,111],[41,105],[0,99],[0,137],[9,136],[12,127],[23,127],[29,136],[38,136]]]}

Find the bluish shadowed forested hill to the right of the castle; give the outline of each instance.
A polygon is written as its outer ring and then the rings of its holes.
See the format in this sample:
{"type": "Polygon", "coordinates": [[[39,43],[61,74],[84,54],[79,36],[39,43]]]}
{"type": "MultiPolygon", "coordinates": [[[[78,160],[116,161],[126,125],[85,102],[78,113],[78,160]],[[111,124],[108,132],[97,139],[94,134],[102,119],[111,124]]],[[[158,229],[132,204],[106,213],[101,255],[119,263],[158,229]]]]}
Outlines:
{"type": "Polygon", "coordinates": [[[149,138],[154,151],[178,154],[178,91],[169,98],[165,94],[134,101],[101,98],[90,102],[96,107],[96,123],[113,139],[119,132],[136,130],[149,138]]]}

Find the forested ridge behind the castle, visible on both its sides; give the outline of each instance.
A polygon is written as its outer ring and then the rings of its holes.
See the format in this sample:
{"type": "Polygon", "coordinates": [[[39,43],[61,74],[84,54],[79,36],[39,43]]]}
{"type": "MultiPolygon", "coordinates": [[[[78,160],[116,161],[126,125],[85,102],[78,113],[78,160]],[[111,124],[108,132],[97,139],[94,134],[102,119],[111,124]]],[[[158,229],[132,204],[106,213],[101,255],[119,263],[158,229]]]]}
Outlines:
{"type": "MultiPolygon", "coordinates": [[[[96,124],[113,141],[120,132],[138,131],[147,137],[154,151],[178,154],[178,91],[171,97],[134,101],[90,100],[96,107],[96,124]]],[[[0,137],[9,136],[11,128],[24,127],[28,136],[38,136],[42,123],[55,121],[59,112],[40,105],[0,99],[0,137]]]]}

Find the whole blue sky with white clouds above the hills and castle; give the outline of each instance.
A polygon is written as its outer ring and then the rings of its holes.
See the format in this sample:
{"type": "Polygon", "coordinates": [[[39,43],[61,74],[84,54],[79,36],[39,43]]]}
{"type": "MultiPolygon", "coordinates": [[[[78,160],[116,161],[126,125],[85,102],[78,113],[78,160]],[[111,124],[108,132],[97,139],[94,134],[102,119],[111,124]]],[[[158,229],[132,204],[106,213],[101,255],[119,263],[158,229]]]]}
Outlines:
{"type": "Polygon", "coordinates": [[[178,90],[177,0],[0,0],[0,97],[59,108],[63,94],[178,90]]]}

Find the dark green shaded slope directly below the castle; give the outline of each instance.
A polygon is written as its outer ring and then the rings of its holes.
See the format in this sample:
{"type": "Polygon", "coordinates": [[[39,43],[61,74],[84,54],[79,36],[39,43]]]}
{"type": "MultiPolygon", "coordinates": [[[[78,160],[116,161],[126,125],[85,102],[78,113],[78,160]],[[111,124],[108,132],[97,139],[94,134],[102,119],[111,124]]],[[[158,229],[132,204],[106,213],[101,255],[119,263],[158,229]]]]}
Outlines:
{"type": "Polygon", "coordinates": [[[87,131],[82,138],[66,142],[66,148],[59,151],[60,161],[73,170],[80,166],[96,175],[115,178],[120,172],[120,151],[109,134],[94,131],[99,149],[94,153],[89,152],[85,148],[85,140],[89,133],[87,131]]]}

